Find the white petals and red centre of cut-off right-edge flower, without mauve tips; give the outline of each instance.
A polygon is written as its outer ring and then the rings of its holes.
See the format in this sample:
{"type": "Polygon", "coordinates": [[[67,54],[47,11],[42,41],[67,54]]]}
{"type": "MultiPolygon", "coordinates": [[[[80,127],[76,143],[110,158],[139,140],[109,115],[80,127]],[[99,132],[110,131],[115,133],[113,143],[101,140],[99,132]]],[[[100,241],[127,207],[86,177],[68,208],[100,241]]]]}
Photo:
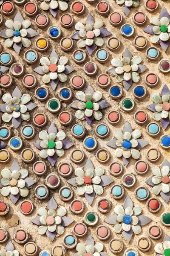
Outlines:
{"type": "Polygon", "coordinates": [[[162,166],[161,169],[158,166],[152,168],[152,183],[154,184],[153,187],[153,194],[159,195],[162,191],[164,193],[168,193],[170,191],[170,167],[169,166],[162,166]]]}

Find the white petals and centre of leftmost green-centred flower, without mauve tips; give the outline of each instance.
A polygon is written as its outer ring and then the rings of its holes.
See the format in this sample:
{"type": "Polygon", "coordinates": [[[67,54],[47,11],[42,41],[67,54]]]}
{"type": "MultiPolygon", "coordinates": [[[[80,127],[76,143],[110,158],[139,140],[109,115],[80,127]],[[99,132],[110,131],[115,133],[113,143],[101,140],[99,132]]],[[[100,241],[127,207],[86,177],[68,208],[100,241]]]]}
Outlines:
{"type": "Polygon", "coordinates": [[[54,154],[57,154],[58,157],[62,157],[64,155],[62,140],[64,140],[65,137],[66,134],[64,131],[59,131],[57,134],[53,132],[48,134],[45,130],[40,131],[40,147],[43,148],[39,153],[40,157],[52,157],[54,154]]]}

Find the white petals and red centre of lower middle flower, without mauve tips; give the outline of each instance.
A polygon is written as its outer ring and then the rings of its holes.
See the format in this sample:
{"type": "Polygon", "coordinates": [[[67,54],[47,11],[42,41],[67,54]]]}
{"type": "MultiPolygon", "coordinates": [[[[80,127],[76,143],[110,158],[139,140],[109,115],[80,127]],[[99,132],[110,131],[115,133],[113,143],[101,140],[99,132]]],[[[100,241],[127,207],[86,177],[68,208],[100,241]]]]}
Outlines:
{"type": "Polygon", "coordinates": [[[89,168],[84,171],[78,167],[75,170],[77,176],[75,183],[78,186],[77,194],[82,196],[85,193],[92,194],[95,192],[97,195],[103,194],[103,187],[99,185],[101,183],[101,176],[105,173],[105,169],[102,166],[96,167],[95,170],[89,168]]]}

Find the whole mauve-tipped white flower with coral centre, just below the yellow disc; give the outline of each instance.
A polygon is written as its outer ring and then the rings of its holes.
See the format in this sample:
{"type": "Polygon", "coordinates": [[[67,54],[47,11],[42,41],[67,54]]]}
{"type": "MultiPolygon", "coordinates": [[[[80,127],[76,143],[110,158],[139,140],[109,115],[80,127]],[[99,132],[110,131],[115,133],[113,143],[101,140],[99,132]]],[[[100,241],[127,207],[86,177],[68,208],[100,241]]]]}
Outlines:
{"type": "Polygon", "coordinates": [[[75,70],[73,67],[67,65],[67,63],[68,58],[66,56],[59,58],[53,50],[49,59],[47,57],[40,58],[40,64],[42,66],[36,67],[34,71],[43,75],[42,81],[45,84],[50,83],[53,90],[55,90],[59,81],[62,83],[66,82],[68,79],[67,75],[75,70]]]}

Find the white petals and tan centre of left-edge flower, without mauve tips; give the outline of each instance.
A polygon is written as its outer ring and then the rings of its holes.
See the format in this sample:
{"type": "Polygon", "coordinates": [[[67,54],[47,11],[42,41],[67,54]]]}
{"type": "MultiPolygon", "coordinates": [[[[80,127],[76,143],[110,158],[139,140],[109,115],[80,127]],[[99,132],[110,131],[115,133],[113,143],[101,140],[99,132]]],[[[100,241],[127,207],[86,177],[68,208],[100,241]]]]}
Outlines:
{"type": "Polygon", "coordinates": [[[1,171],[1,176],[3,177],[0,180],[0,184],[3,188],[0,190],[1,195],[8,196],[10,193],[12,195],[18,195],[26,197],[29,193],[29,190],[26,188],[25,178],[28,176],[28,171],[26,169],[20,169],[10,171],[7,168],[4,168],[1,171]]]}

